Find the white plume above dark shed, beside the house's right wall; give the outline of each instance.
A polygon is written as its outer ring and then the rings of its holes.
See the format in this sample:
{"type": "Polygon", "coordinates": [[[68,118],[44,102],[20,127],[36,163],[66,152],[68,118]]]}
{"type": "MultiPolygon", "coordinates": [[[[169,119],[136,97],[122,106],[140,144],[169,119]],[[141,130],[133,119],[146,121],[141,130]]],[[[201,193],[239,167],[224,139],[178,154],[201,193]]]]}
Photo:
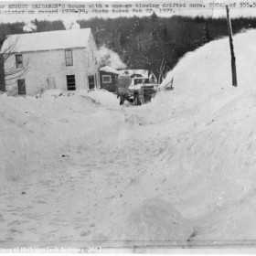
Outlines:
{"type": "Polygon", "coordinates": [[[113,69],[125,69],[126,65],[120,59],[119,55],[109,48],[101,47],[97,52],[100,67],[110,66],[113,69]]]}

